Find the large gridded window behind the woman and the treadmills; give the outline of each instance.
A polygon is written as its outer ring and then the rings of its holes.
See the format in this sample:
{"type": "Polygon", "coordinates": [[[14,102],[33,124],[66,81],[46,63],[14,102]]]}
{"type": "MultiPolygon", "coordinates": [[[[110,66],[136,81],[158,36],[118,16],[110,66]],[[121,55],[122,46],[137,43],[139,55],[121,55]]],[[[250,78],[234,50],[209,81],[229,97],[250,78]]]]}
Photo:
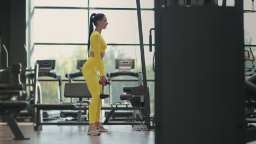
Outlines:
{"type": "MultiPolygon", "coordinates": [[[[150,87],[150,102],[154,111],[153,52],[149,52],[148,46],[149,29],[154,27],[154,0],[141,0],[141,8],[147,79],[150,87]]],[[[142,71],[136,1],[132,0],[34,0],[31,38],[33,48],[29,53],[30,64],[34,65],[39,59],[55,59],[54,71],[61,73],[63,83],[67,82],[65,74],[78,71],[77,60],[87,59],[88,24],[92,13],[105,14],[109,22],[107,29],[102,31],[102,36],[108,44],[104,57],[106,73],[117,71],[115,69],[117,58],[136,59],[133,71],[142,71]]],[[[57,103],[57,81],[52,81],[50,77],[40,79],[44,79],[40,82],[44,103],[57,103]]],[[[135,80],[133,77],[118,79],[135,80]]],[[[83,81],[84,78],[79,77],[78,80],[83,81]]],[[[111,103],[120,100],[123,86],[137,86],[137,82],[113,81],[111,103]]],[[[108,93],[108,88],[105,91],[108,93]]]]}

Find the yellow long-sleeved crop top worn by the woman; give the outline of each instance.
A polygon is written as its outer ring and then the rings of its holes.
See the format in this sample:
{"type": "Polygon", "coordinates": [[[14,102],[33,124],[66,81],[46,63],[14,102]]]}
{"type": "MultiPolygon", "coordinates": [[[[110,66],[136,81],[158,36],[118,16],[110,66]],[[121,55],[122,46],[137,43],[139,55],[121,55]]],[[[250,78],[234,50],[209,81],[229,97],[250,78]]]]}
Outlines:
{"type": "Polygon", "coordinates": [[[94,31],[91,33],[90,44],[91,51],[94,52],[94,57],[96,59],[96,67],[98,71],[100,71],[101,76],[104,76],[105,68],[103,59],[101,59],[101,52],[106,51],[107,44],[98,31],[94,31]]]}

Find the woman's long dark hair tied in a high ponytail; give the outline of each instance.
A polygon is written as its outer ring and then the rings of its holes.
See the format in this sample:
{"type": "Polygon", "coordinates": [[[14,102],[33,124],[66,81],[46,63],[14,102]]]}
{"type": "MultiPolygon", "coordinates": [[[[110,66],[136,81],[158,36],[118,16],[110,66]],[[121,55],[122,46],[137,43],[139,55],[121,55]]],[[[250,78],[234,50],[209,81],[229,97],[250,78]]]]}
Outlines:
{"type": "Polygon", "coordinates": [[[90,51],[90,37],[91,37],[91,33],[94,32],[94,26],[97,26],[97,21],[101,20],[103,18],[104,14],[95,14],[92,13],[91,17],[90,17],[90,23],[89,23],[89,37],[88,37],[88,44],[87,44],[87,50],[88,52],[90,51]],[[94,26],[92,25],[92,23],[94,23],[94,26]]]}

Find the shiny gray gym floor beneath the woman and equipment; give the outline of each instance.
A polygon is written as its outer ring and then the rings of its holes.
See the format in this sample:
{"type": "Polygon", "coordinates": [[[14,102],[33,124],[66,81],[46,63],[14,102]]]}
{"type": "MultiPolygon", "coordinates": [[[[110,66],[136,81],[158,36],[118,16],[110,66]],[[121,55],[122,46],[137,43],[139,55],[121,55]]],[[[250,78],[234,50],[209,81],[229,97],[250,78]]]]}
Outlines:
{"type": "Polygon", "coordinates": [[[106,125],[107,133],[100,136],[87,135],[88,125],[43,125],[42,131],[34,131],[31,123],[19,123],[21,130],[30,140],[13,140],[13,134],[9,127],[0,125],[0,143],[26,143],[26,144],[153,144],[155,143],[155,131],[136,131],[131,125],[106,125]]]}

